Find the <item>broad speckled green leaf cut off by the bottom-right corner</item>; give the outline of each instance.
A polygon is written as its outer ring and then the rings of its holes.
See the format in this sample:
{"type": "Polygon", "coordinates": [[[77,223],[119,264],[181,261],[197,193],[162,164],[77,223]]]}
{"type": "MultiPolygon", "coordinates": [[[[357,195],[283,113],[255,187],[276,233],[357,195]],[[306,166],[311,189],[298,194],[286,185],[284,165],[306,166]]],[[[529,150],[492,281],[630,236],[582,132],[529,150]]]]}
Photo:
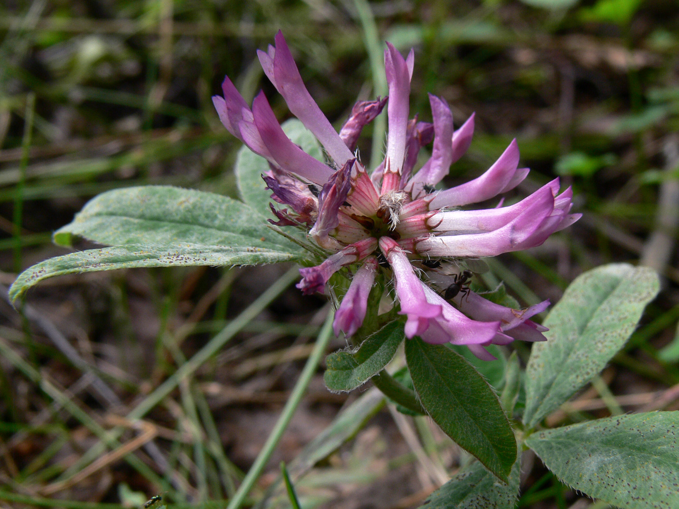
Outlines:
{"type": "Polygon", "coordinates": [[[574,489],[629,509],[679,507],[679,412],[619,415],[526,439],[574,489]]]}

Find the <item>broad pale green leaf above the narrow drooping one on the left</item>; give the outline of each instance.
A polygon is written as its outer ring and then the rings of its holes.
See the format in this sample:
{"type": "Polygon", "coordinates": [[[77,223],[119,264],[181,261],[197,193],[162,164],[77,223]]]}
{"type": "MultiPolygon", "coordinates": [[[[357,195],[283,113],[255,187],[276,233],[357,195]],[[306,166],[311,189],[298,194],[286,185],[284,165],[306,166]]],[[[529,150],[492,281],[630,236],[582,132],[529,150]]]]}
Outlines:
{"type": "Polygon", "coordinates": [[[162,244],[257,247],[299,252],[266,227],[249,206],[229,197],[171,186],[128,187],[90,200],[54,242],[70,246],[72,236],[98,244],[162,244]]]}

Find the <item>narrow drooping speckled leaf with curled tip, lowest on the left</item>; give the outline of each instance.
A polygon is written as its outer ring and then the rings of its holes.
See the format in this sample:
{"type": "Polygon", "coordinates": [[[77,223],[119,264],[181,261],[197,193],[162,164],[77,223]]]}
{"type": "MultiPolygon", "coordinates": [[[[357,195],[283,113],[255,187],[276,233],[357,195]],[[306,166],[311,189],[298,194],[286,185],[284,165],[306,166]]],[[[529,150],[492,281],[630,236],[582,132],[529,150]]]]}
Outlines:
{"type": "Polygon", "coordinates": [[[10,299],[15,301],[38,282],[64,274],[128,269],[130,267],[254,265],[255,263],[274,263],[297,259],[299,259],[299,255],[282,250],[184,243],[177,243],[172,246],[129,244],[127,246],[90,249],[51,258],[26,269],[19,274],[12,284],[10,299]]]}

